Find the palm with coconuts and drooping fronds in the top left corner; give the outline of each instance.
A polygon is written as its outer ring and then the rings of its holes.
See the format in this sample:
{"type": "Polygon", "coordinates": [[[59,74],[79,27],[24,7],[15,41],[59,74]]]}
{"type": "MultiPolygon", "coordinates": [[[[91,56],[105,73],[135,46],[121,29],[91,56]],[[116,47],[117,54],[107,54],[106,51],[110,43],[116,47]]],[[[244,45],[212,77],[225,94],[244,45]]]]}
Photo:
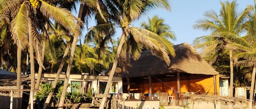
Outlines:
{"type": "MultiPolygon", "coordinates": [[[[33,102],[34,94],[34,65],[33,65],[33,39],[39,36],[40,30],[44,28],[40,25],[41,22],[45,20],[50,20],[52,18],[55,22],[62,24],[66,27],[73,35],[79,34],[79,27],[76,25],[76,18],[67,9],[62,9],[54,7],[45,1],[25,1],[25,0],[10,0],[1,1],[1,11],[0,15],[5,13],[12,13],[14,19],[11,20],[11,33],[15,43],[26,47],[26,43],[29,41],[29,53],[31,59],[31,102],[33,102]],[[16,10],[16,11],[14,11],[16,10]],[[33,23],[32,23],[33,22],[33,23]],[[40,22],[40,23],[39,23],[40,22]],[[28,25],[28,26],[27,26],[28,25]],[[28,37],[26,37],[28,36],[28,37]],[[28,40],[27,40],[28,39],[28,40]],[[22,43],[23,42],[23,43],[22,43]]],[[[44,24],[44,23],[43,23],[44,24]]],[[[39,55],[41,56],[41,55],[39,55]]],[[[41,58],[38,58],[41,59],[41,58]]],[[[39,65],[42,66],[42,60],[38,60],[39,65]]],[[[19,66],[18,66],[19,67],[19,66]]],[[[33,104],[31,103],[31,108],[33,104]]]]}

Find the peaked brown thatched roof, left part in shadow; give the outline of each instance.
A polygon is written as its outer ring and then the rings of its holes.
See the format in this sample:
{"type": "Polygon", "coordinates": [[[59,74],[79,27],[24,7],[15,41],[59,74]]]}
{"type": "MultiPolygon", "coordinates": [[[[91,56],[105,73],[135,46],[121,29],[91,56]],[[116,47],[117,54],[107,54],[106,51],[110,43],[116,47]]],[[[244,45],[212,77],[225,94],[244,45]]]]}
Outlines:
{"type": "Polygon", "coordinates": [[[153,56],[149,50],[145,50],[141,53],[139,60],[130,61],[127,71],[122,72],[121,75],[123,78],[130,78],[177,72],[205,75],[218,74],[188,43],[178,44],[174,48],[176,56],[170,57],[170,66],[167,66],[158,57],[153,56]]]}

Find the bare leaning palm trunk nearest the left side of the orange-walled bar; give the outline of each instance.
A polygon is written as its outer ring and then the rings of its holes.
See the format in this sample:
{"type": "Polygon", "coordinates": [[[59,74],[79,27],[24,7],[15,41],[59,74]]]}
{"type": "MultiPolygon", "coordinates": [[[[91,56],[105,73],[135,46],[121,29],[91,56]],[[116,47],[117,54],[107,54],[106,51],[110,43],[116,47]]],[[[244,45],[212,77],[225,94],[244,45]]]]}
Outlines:
{"type": "Polygon", "coordinates": [[[116,57],[115,57],[115,60],[113,62],[112,68],[110,70],[109,80],[108,80],[108,83],[106,84],[103,99],[102,99],[102,102],[100,102],[99,109],[104,109],[106,98],[108,97],[108,94],[109,94],[110,85],[111,85],[113,76],[115,74],[116,66],[117,66],[118,60],[120,58],[120,53],[121,53],[124,41],[125,41],[125,35],[122,34],[120,43],[119,43],[118,48],[117,48],[116,57]]]}

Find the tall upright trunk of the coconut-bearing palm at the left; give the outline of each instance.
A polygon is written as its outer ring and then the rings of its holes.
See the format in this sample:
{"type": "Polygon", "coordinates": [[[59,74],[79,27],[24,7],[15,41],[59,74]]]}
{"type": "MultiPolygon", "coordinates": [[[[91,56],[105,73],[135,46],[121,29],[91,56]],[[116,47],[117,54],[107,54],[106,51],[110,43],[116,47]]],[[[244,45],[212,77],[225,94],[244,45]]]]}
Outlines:
{"type": "Polygon", "coordinates": [[[31,72],[31,92],[30,92],[30,108],[33,109],[34,104],[34,87],[35,87],[35,70],[34,70],[34,50],[33,50],[33,36],[32,36],[32,22],[28,20],[28,43],[29,43],[29,59],[31,72]]]}

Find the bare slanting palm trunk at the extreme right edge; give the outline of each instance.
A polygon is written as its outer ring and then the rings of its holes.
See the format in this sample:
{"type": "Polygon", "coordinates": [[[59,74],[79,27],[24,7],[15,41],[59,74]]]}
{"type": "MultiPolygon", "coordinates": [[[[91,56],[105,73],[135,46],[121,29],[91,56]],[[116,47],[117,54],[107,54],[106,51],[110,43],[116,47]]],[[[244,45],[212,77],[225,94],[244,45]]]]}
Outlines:
{"type": "Polygon", "coordinates": [[[249,109],[253,109],[255,73],[256,73],[256,66],[253,67],[253,71],[252,71],[252,82],[251,82],[251,88],[250,88],[249,109]]]}

